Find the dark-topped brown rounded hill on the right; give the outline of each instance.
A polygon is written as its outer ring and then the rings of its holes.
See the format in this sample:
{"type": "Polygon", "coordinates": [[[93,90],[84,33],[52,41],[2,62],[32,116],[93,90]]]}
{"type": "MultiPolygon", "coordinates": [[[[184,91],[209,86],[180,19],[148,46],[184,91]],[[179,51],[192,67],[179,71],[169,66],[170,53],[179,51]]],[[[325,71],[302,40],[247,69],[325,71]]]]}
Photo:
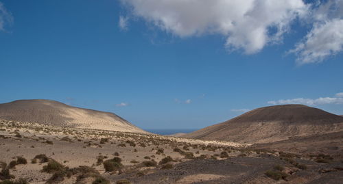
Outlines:
{"type": "Polygon", "coordinates": [[[182,137],[265,143],[289,137],[342,131],[343,117],[305,105],[276,105],[248,111],[226,122],[182,137]]]}

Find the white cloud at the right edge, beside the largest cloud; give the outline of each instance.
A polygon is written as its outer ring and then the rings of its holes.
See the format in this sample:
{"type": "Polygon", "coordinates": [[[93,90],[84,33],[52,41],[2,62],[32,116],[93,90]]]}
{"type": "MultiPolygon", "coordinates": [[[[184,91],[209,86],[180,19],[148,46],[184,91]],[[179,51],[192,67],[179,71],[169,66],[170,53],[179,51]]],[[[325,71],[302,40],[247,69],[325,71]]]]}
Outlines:
{"type": "Polygon", "coordinates": [[[343,51],[343,0],[329,0],[312,11],[311,31],[290,51],[298,64],[322,62],[343,51]]]}

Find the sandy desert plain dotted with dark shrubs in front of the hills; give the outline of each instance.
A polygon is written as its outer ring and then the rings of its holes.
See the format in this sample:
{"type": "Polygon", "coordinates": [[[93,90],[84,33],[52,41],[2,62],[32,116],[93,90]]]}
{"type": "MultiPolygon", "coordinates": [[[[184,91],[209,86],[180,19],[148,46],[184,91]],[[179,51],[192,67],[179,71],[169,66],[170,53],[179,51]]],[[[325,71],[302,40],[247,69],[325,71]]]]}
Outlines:
{"type": "Polygon", "coordinates": [[[0,183],[341,183],[342,133],[331,136],[328,155],[1,120],[0,183]]]}

